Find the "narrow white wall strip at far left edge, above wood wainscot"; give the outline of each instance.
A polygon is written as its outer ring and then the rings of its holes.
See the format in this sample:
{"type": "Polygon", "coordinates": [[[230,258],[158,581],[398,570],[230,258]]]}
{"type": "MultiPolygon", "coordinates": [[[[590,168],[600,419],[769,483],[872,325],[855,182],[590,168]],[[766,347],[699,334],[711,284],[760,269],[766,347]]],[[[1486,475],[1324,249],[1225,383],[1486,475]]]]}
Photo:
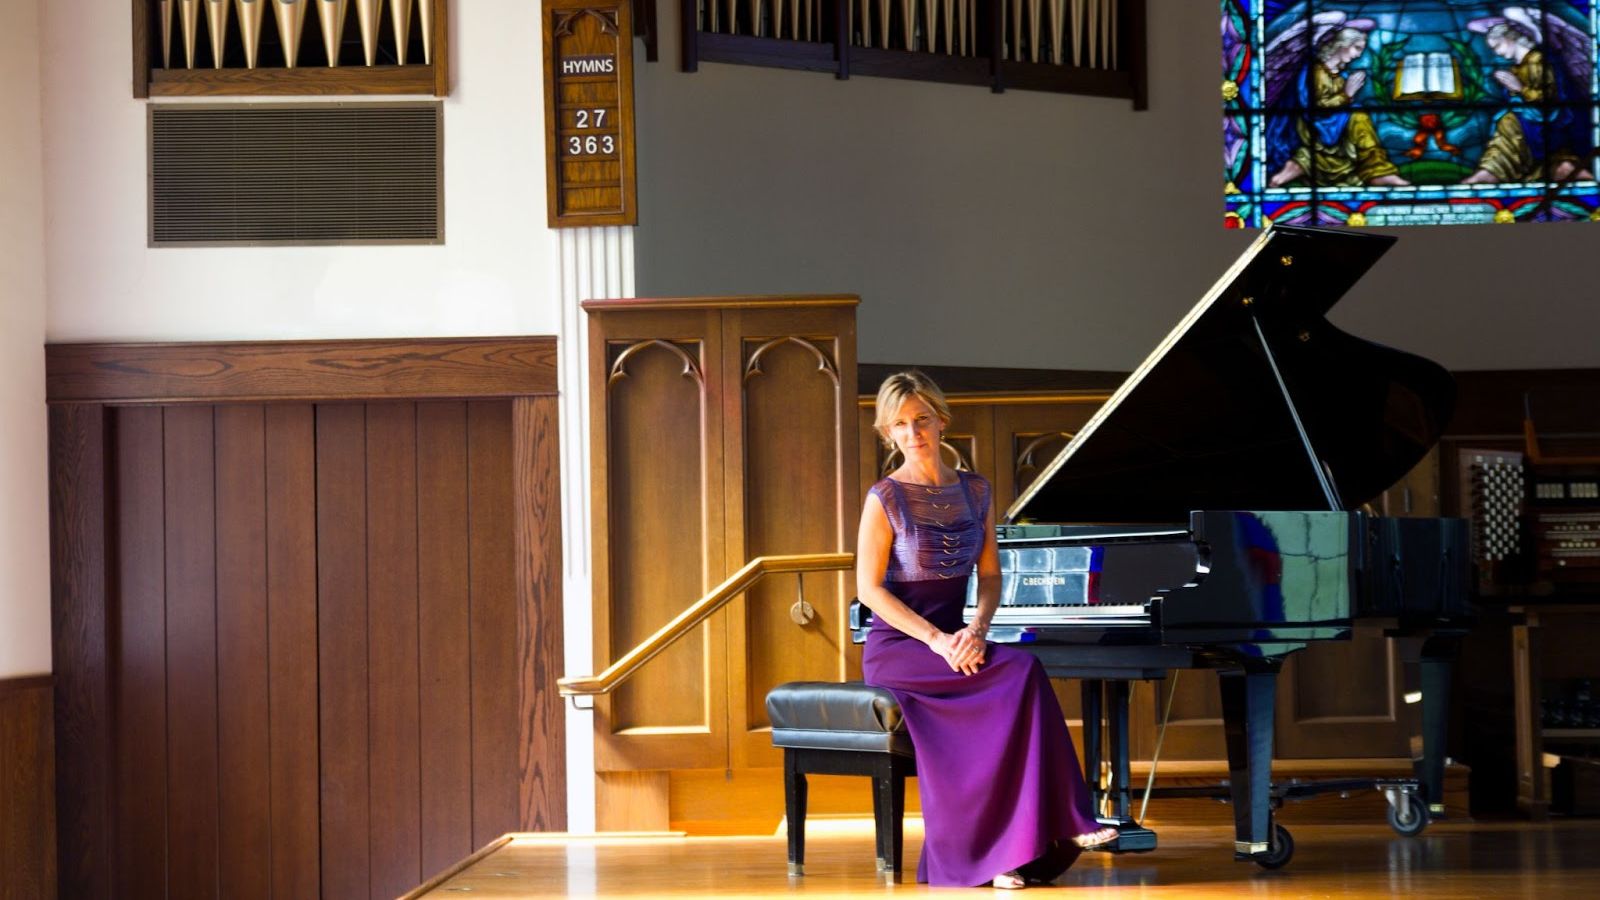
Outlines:
{"type": "Polygon", "coordinates": [[[0,26],[0,679],[50,671],[38,11],[0,26]]]}

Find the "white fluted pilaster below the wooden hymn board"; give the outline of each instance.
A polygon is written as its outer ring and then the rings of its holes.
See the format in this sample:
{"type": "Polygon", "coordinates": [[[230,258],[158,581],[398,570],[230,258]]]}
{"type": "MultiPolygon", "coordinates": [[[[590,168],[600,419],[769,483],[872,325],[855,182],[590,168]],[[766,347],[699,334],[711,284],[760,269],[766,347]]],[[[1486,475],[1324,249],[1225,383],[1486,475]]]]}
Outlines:
{"type": "MultiPolygon", "coordinates": [[[[589,509],[589,322],[586,299],[634,296],[630,226],[557,229],[562,240],[562,623],[566,671],[594,673],[589,509]]],[[[595,828],[594,714],[566,703],[566,830],[595,828]]]]}

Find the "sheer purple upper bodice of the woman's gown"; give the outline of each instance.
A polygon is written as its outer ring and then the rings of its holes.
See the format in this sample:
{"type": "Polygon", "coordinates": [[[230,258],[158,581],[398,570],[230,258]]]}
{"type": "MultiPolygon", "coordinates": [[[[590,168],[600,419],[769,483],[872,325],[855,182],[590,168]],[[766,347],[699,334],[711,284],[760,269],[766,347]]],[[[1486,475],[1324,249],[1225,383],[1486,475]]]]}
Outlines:
{"type": "Polygon", "coordinates": [[[883,479],[872,493],[894,528],[894,546],[883,583],[934,581],[966,577],[984,549],[989,519],[989,482],[957,472],[952,485],[907,484],[883,479]]]}

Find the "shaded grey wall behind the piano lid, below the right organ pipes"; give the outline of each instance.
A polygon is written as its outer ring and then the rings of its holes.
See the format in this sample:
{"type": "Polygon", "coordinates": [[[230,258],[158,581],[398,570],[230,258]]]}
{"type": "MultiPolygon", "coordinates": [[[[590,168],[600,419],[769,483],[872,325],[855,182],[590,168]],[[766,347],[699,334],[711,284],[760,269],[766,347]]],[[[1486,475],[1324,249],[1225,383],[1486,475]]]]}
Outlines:
{"type": "MultiPolygon", "coordinates": [[[[640,293],[856,291],[862,360],[1131,370],[1254,235],[1221,227],[1216,3],[1147,8],[1146,112],[686,75],[669,24],[637,78],[640,293]]],[[[1392,229],[1333,319],[1450,368],[1600,365],[1597,229],[1392,229]]]]}

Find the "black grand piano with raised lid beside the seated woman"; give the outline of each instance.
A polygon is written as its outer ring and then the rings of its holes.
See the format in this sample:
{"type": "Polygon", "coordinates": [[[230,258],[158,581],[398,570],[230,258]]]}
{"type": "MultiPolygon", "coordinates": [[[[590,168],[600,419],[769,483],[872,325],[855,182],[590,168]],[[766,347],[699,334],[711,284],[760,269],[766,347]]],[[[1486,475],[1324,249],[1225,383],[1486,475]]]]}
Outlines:
{"type": "MultiPolygon", "coordinates": [[[[1467,524],[1358,508],[1434,445],[1454,383],[1325,319],[1392,243],[1264,232],[1005,512],[990,637],[1083,679],[1091,786],[1107,732],[1110,783],[1096,799],[1123,828],[1114,850],[1155,846],[1128,818],[1130,681],[1213,668],[1235,858],[1286,863],[1293,839],[1272,822],[1285,798],[1270,783],[1277,673],[1358,620],[1442,636],[1424,653],[1418,772],[1440,809],[1448,637],[1470,617],[1467,524]]],[[[1405,804],[1390,823],[1426,823],[1410,790],[1389,799],[1405,804]]]]}

